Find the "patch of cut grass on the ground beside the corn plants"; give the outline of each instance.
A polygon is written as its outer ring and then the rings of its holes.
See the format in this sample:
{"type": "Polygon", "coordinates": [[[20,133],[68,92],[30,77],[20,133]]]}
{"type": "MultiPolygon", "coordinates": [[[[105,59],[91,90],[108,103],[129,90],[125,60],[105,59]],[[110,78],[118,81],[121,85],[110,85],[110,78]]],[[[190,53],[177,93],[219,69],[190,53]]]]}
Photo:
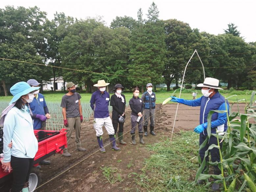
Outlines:
{"type": "Polygon", "coordinates": [[[198,169],[198,134],[192,132],[179,132],[170,142],[163,137],[162,141],[147,145],[153,151],[141,169],[140,174],[131,174],[134,177],[138,190],[143,191],[210,191],[204,186],[192,186],[198,169]]]}

